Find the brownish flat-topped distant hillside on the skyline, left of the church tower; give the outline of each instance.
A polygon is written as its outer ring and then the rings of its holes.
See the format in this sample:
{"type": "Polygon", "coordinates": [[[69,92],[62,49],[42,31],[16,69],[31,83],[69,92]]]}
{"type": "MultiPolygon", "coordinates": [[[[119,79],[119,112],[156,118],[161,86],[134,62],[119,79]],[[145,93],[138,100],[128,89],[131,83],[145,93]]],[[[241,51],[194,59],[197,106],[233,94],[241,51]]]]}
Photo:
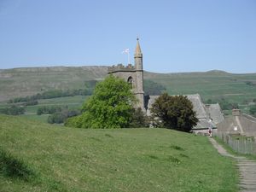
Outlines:
{"type": "Polygon", "coordinates": [[[84,81],[103,79],[108,67],[27,67],[0,70],[0,101],[31,96],[45,90],[84,87],[84,81]]]}

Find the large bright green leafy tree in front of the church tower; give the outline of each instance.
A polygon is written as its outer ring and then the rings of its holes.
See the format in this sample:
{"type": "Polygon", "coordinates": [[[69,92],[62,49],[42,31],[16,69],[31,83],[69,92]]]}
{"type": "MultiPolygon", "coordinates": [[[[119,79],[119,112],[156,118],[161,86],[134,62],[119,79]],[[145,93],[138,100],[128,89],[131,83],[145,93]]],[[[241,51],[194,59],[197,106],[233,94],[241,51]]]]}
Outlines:
{"type": "Polygon", "coordinates": [[[84,103],[84,113],[76,118],[82,122],[76,122],[75,125],[81,125],[82,128],[128,127],[134,102],[135,96],[130,85],[110,75],[96,84],[94,94],[84,103]]]}

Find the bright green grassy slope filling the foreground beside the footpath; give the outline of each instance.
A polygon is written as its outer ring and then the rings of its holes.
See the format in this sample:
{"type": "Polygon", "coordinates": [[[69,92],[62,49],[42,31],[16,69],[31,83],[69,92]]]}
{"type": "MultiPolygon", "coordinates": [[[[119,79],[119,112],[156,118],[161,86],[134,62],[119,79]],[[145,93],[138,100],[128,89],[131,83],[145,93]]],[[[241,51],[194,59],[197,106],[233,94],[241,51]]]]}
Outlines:
{"type": "Polygon", "coordinates": [[[0,122],[0,149],[37,174],[26,182],[0,172],[0,191],[237,191],[234,162],[207,137],[72,129],[4,115],[0,122]]]}

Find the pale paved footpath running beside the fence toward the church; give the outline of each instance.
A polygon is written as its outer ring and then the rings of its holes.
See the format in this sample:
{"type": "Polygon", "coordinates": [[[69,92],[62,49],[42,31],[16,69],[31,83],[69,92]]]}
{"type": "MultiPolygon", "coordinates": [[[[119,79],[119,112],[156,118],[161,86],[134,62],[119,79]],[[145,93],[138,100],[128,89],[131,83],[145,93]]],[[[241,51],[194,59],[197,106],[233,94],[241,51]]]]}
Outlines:
{"type": "Polygon", "coordinates": [[[248,160],[246,157],[235,156],[229,154],[221,145],[213,138],[209,138],[213,147],[218,153],[224,156],[234,158],[240,172],[239,189],[241,192],[256,192],[256,161],[248,160]]]}

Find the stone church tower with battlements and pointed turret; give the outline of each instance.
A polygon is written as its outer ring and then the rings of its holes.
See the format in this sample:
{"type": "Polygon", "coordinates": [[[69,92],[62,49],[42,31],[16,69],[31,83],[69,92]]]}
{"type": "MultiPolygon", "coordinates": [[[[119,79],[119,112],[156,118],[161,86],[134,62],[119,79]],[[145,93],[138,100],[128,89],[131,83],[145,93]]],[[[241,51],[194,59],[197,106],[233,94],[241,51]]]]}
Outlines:
{"type": "Polygon", "coordinates": [[[137,108],[145,110],[143,91],[143,53],[138,38],[134,53],[134,66],[128,64],[128,66],[125,67],[122,64],[118,64],[117,66],[108,67],[108,74],[113,74],[130,83],[131,89],[137,97],[137,108]]]}

